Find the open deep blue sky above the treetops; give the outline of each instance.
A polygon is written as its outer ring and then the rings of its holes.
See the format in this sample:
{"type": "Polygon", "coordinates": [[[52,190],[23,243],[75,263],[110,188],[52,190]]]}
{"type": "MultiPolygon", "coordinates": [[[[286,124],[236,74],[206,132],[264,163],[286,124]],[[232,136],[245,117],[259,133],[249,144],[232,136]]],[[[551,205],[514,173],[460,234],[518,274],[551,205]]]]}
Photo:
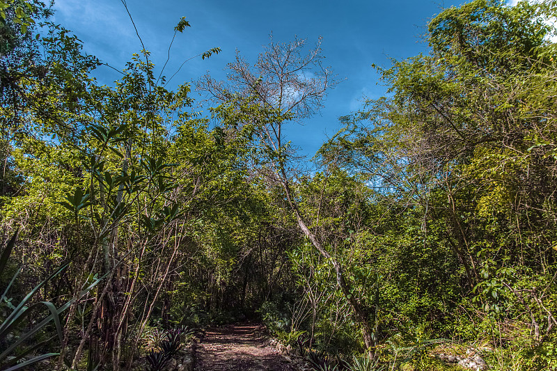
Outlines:
{"type": "MultiPolygon", "coordinates": [[[[345,79],[329,92],[325,108],[306,121],[292,125],[288,139],[301,154],[313,155],[333,136],[338,118],[361,107],[363,97],[384,95],[377,85],[372,63],[391,65],[389,58],[407,58],[426,52],[421,42],[428,19],[443,8],[466,0],[127,0],[139,34],[162,68],[168,56],[173,28],[186,17],[191,28],[178,34],[171,49],[171,60],[164,74],[171,76],[191,56],[211,47],[222,53],[202,61],[196,58],[184,65],[169,86],[194,81],[210,72],[223,79],[226,63],[233,61],[235,50],[255,61],[262,45],[289,42],[297,35],[312,44],[323,37],[324,64],[345,79]]],[[[56,0],[54,21],[73,31],[84,42],[88,54],[120,70],[133,53],[141,50],[130,18],[119,0],[56,0]]],[[[107,67],[95,72],[103,84],[112,84],[118,74],[107,67]]]]}

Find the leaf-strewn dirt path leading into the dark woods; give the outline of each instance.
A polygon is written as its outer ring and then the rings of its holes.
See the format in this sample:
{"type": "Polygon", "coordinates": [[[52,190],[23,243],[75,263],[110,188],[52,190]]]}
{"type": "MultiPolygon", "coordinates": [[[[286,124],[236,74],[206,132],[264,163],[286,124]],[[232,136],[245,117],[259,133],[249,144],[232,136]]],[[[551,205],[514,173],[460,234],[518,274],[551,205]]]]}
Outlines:
{"type": "Polygon", "coordinates": [[[292,371],[274,348],[269,347],[264,328],[235,324],[209,329],[197,345],[196,371],[292,371]]]}

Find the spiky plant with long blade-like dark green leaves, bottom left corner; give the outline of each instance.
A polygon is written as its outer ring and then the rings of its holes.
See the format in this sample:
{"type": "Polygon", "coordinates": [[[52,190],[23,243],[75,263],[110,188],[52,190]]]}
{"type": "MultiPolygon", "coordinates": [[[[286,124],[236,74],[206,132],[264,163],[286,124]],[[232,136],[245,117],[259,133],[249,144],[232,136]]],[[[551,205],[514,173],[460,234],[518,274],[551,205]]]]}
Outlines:
{"type": "MultiPolygon", "coordinates": [[[[4,270],[6,269],[6,265],[8,263],[8,258],[10,258],[10,255],[13,251],[13,247],[15,246],[15,240],[17,239],[17,232],[18,231],[16,230],[13,236],[10,238],[6,246],[3,247],[0,253],[0,276],[3,275],[4,270]]],[[[1,370],[3,371],[19,370],[22,368],[26,368],[29,365],[33,365],[33,363],[37,363],[38,361],[42,361],[43,359],[58,355],[58,353],[45,353],[45,354],[40,354],[38,356],[33,356],[32,358],[26,359],[26,357],[29,354],[32,354],[37,349],[45,345],[47,342],[49,342],[53,338],[56,338],[56,336],[58,336],[58,340],[60,340],[60,342],[63,342],[62,325],[60,322],[61,313],[63,313],[64,310],[70,308],[70,306],[72,305],[72,303],[74,303],[74,301],[81,299],[81,297],[84,297],[84,295],[86,295],[87,292],[89,292],[93,287],[95,287],[95,285],[97,285],[97,283],[100,282],[100,280],[102,280],[102,278],[104,278],[103,276],[101,278],[92,280],[92,282],[88,283],[87,287],[85,287],[84,290],[81,290],[81,292],[77,294],[77,297],[74,297],[72,300],[68,301],[67,303],[65,303],[63,306],[59,308],[56,308],[56,306],[54,306],[54,304],[51,303],[50,301],[40,301],[38,303],[33,303],[30,306],[28,306],[29,303],[31,302],[31,299],[40,290],[40,288],[44,286],[45,283],[52,280],[52,278],[60,274],[64,269],[68,267],[68,265],[70,265],[70,262],[65,262],[63,265],[61,265],[61,267],[58,267],[58,269],[56,269],[56,271],[54,271],[50,276],[48,276],[45,279],[45,281],[42,281],[41,283],[36,285],[36,287],[34,287],[33,290],[31,290],[28,294],[26,294],[26,296],[22,299],[22,301],[20,301],[17,304],[17,306],[12,303],[12,299],[8,298],[7,295],[8,295],[8,291],[10,290],[10,287],[13,285],[15,279],[17,278],[17,276],[19,276],[19,273],[22,271],[22,268],[19,268],[11,278],[10,283],[8,283],[8,286],[3,291],[3,294],[0,297],[0,305],[2,303],[6,303],[8,310],[11,310],[11,313],[9,313],[6,319],[4,319],[4,321],[0,324],[0,342],[6,342],[6,339],[10,337],[13,338],[14,340],[12,340],[10,342],[10,345],[8,345],[8,347],[6,347],[6,349],[3,349],[2,352],[0,353],[1,370]],[[29,315],[32,313],[33,310],[41,306],[46,307],[49,310],[50,315],[42,319],[40,322],[38,322],[38,324],[33,326],[30,330],[24,332],[24,327],[22,326],[23,320],[26,319],[26,317],[29,317],[29,315]],[[37,342],[36,338],[38,332],[44,329],[45,326],[47,326],[51,322],[54,322],[54,326],[56,328],[56,335],[42,342],[37,342]],[[22,332],[21,335],[19,335],[20,332],[22,332]],[[33,343],[33,342],[34,342],[33,345],[26,346],[26,344],[33,343]]]]}

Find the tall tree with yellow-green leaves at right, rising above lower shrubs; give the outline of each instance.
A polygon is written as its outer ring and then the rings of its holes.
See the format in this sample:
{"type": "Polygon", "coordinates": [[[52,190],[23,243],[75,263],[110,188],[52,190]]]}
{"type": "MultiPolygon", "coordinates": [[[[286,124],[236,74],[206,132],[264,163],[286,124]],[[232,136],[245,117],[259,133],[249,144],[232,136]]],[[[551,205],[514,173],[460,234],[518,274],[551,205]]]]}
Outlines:
{"type": "Polygon", "coordinates": [[[448,246],[464,295],[489,318],[524,318],[536,343],[554,328],[556,310],[548,9],[476,0],[444,10],[429,24],[430,54],[382,70],[391,97],[346,118],[321,152],[391,207],[422,212],[408,236],[448,246]]]}

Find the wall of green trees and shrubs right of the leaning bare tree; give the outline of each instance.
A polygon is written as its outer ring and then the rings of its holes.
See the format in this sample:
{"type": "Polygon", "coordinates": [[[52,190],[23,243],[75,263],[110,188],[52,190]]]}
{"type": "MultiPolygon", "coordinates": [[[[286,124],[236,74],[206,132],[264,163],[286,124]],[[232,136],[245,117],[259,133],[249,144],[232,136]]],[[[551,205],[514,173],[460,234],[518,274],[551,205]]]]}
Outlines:
{"type": "Polygon", "coordinates": [[[347,241],[353,277],[382,276],[379,305],[371,290],[366,299],[381,341],[407,333],[400,322],[432,338],[492,337],[498,349],[508,343],[489,335],[494,328],[499,338],[549,341],[555,30],[544,19],[554,10],[482,0],[444,10],[428,25],[430,53],[379,69],[391,96],[343,118],[345,129],[320,150],[323,166],[373,190],[347,241]],[[530,333],[513,335],[523,323],[530,333]]]}

